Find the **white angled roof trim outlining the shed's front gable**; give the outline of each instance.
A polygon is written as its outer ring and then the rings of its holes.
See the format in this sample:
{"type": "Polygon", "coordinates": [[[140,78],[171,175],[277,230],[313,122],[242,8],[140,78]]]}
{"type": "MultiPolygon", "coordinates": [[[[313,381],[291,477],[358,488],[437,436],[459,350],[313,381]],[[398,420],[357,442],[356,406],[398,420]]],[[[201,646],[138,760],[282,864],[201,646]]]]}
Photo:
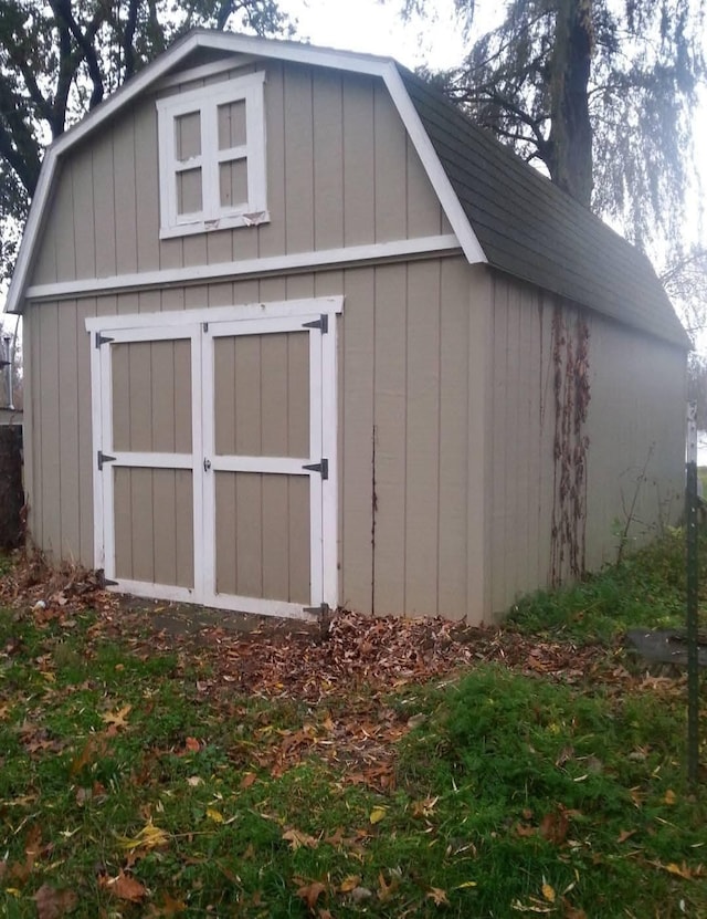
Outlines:
{"type": "Polygon", "coordinates": [[[173,67],[199,48],[231,53],[245,53],[258,58],[292,61],[313,66],[379,76],[384,82],[400,117],[410,135],[422,165],[432,182],[440,203],[454,230],[466,259],[471,262],[486,262],[487,259],[464,213],[432,142],[408,95],[400,72],[391,58],[376,58],[350,51],[336,51],[329,48],[316,48],[298,42],[260,39],[229,32],[196,30],[176,42],[145,70],[134,76],[123,88],[106,102],[98,105],[77,125],[70,128],[46,150],[40,179],[34,192],[32,206],[20,244],[18,261],[10,282],[6,311],[20,312],[21,301],[28,281],[31,259],[43,223],[44,211],[50,201],[57,160],[71,147],[82,140],[88,133],[113,118],[117,112],[128,105],[136,96],[152,84],[157,84],[173,67]]]}

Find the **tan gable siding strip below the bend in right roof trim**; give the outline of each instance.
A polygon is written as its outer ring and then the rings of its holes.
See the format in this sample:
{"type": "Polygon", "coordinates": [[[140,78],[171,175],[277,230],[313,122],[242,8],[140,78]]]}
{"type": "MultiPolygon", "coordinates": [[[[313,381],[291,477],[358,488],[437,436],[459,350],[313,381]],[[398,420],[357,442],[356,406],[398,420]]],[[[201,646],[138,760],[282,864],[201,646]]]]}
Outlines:
{"type": "MultiPolygon", "coordinates": [[[[373,135],[376,142],[376,241],[404,239],[407,233],[408,135],[390,94],[382,83],[373,94],[373,135]]],[[[425,179],[426,180],[426,179],[425,179]]]]}

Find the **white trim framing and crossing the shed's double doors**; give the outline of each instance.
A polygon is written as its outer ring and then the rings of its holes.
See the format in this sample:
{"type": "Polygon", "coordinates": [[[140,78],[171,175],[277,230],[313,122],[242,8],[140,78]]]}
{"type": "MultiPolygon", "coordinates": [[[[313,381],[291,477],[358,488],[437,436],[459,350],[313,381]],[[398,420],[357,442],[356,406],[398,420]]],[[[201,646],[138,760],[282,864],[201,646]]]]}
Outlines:
{"type": "Polygon", "coordinates": [[[96,316],[85,321],[91,333],[92,424],[94,447],[94,558],[115,589],[170,601],[199,602],[224,609],[312,618],[304,604],[215,594],[214,477],[212,471],[272,472],[308,476],[310,480],[310,591],[313,608],[338,605],[338,458],[336,315],[344,299],[255,303],[233,307],[96,316]],[[295,332],[305,322],[326,318],[327,331],[309,328],[310,456],[218,457],[213,450],[213,338],[295,332]],[[144,341],[191,341],[192,451],[150,453],[113,449],[113,362],[106,345],[144,341]],[[102,358],[105,355],[106,359],[102,358]],[[204,452],[205,451],[205,452],[204,452]],[[113,476],[98,469],[98,456],[114,457],[110,466],[189,469],[193,482],[194,587],[179,587],[115,577],[115,507],[113,476]],[[209,453],[209,456],[207,456],[209,453]],[[328,460],[328,477],[303,467],[328,460]],[[211,534],[211,537],[208,537],[211,534]]]}

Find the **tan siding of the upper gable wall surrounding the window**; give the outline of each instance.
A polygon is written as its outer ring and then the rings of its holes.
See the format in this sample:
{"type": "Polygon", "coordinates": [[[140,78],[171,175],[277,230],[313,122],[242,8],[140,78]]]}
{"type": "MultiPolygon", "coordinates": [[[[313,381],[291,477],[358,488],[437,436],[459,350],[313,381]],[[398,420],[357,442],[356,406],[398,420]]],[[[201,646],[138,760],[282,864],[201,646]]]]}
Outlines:
{"type": "MultiPolygon", "coordinates": [[[[265,105],[270,223],[159,240],[151,96],[92,135],[91,146],[72,150],[30,283],[451,232],[381,81],[272,63],[265,105]]],[[[193,125],[182,127],[184,148],[192,149],[193,125]]],[[[238,197],[242,177],[231,179],[238,197]]],[[[184,208],[196,207],[193,189],[183,191],[184,208]]]]}

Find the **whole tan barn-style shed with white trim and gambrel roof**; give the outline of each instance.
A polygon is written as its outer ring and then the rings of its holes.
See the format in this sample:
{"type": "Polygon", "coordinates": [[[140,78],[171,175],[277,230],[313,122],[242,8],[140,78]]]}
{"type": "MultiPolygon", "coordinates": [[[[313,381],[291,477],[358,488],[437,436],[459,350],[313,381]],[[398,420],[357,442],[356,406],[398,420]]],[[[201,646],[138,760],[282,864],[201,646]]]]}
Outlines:
{"type": "Polygon", "coordinates": [[[190,33],[49,149],[9,309],[33,539],[117,589],[488,622],[679,510],[653,269],[392,60],[190,33]]]}

